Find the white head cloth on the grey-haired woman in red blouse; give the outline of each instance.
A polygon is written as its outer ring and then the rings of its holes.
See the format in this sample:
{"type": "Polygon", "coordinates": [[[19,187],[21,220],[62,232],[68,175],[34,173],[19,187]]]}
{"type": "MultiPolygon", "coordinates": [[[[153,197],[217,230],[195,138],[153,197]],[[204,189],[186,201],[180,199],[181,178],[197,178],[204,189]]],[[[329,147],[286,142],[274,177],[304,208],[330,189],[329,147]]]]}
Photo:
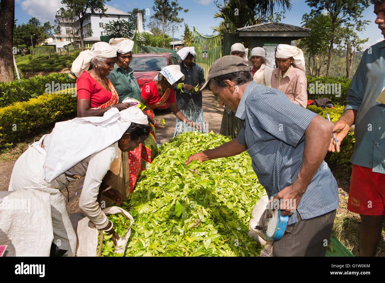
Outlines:
{"type": "Polygon", "coordinates": [[[71,72],[79,77],[84,71],[90,67],[91,60],[95,57],[113,58],[116,57],[115,47],[107,42],[96,42],[91,49],[80,52],[79,56],[72,63],[71,72]]]}

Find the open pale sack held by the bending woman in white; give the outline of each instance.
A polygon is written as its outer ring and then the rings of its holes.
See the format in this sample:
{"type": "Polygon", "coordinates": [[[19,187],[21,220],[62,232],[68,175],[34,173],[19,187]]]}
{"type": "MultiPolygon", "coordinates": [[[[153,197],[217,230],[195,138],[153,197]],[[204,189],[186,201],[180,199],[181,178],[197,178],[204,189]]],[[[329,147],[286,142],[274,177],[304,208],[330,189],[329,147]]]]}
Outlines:
{"type": "MultiPolygon", "coordinates": [[[[124,253],[126,249],[128,239],[131,235],[131,227],[134,223],[134,218],[125,211],[124,209],[111,206],[109,208],[103,209],[103,212],[107,214],[117,214],[121,213],[126,218],[130,219],[130,227],[127,229],[126,234],[119,238],[117,241],[117,248],[115,249],[115,253],[124,253]]],[[[76,256],[97,256],[97,238],[99,231],[95,228],[94,223],[90,221],[87,217],[83,218],[77,224],[77,237],[79,239],[79,247],[76,251],[76,256]]]]}

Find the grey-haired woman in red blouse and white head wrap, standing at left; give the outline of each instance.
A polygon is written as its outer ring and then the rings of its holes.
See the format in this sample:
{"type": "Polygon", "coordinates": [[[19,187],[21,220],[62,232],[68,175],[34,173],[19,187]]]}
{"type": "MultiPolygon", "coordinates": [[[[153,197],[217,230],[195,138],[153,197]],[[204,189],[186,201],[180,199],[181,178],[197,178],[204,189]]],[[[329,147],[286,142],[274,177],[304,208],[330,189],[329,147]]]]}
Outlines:
{"type": "Polygon", "coordinates": [[[69,76],[77,78],[78,117],[103,116],[112,107],[119,111],[129,107],[128,103],[118,103],[119,96],[107,78],[115,61],[116,48],[107,42],[97,42],[90,50],[80,52],[72,63],[69,76]]]}

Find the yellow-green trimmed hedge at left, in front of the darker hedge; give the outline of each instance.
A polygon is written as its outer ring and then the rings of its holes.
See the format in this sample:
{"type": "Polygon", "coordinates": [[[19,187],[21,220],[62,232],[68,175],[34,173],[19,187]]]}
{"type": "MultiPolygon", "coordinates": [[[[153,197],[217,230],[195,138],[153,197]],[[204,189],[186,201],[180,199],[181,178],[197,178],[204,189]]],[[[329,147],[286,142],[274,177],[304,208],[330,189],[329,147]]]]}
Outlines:
{"type": "Polygon", "coordinates": [[[71,116],[76,113],[77,97],[76,92],[72,92],[75,89],[43,94],[0,108],[0,149],[25,141],[27,137],[53,127],[55,122],[73,118],[71,116]]]}

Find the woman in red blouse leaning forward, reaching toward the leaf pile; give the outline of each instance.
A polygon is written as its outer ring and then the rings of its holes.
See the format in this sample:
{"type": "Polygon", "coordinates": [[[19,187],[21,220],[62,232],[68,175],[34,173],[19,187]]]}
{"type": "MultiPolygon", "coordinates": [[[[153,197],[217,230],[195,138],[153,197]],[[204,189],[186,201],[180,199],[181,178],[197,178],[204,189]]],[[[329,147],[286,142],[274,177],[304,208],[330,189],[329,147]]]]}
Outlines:
{"type": "Polygon", "coordinates": [[[194,129],[200,129],[199,123],[187,119],[176,105],[173,87],[175,87],[176,82],[181,78],[183,80],[184,75],[181,72],[179,65],[168,65],[157,74],[154,80],[145,84],[142,88],[141,102],[147,107],[146,113],[149,115],[151,126],[150,135],[147,137],[146,141],[144,141],[146,151],[143,151],[142,153],[143,167],[146,166],[146,162],[151,163],[152,159],[157,156],[158,149],[156,145],[155,129],[163,128],[160,122],[155,121],[153,109],[164,103],[168,103],[172,112],[178,119],[189,124],[194,129]]]}

